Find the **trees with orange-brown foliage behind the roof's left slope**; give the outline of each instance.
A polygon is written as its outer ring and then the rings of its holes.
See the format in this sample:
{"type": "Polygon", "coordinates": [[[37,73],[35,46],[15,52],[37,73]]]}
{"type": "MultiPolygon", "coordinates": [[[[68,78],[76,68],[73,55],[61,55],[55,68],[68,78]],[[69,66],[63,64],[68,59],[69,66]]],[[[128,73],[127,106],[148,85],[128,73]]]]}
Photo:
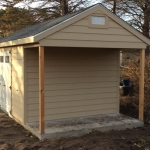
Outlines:
{"type": "Polygon", "coordinates": [[[0,37],[89,5],[88,0],[0,0],[0,37]],[[33,5],[34,4],[34,5],[33,5]]]}

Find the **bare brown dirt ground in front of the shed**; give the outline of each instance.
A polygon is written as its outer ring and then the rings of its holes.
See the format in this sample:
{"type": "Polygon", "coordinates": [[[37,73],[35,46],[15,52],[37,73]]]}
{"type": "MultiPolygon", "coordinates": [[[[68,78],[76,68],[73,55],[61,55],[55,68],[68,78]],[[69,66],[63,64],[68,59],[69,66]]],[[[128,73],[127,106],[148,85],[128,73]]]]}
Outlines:
{"type": "MultiPolygon", "coordinates": [[[[121,107],[121,113],[138,114],[128,107],[121,107]]],[[[146,116],[143,128],[40,141],[0,111],[0,150],[150,150],[150,119],[146,116]]]]}

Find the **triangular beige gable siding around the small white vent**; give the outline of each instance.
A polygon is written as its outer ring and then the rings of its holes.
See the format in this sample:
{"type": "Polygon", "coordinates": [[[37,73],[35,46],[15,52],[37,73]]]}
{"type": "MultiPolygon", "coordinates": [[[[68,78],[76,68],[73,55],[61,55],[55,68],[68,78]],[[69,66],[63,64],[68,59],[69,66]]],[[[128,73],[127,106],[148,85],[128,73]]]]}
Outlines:
{"type": "Polygon", "coordinates": [[[108,28],[90,27],[89,16],[46,37],[40,41],[40,44],[104,48],[141,48],[141,45],[143,48],[146,47],[143,41],[110,18],[108,18],[108,28]]]}

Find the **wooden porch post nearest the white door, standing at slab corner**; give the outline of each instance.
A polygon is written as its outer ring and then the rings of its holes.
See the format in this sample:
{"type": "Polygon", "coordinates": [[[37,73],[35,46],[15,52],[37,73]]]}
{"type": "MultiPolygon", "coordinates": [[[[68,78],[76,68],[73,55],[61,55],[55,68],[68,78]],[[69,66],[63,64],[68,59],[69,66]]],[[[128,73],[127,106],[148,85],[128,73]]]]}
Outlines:
{"type": "Polygon", "coordinates": [[[39,130],[44,133],[44,47],[39,47],[39,130]]]}

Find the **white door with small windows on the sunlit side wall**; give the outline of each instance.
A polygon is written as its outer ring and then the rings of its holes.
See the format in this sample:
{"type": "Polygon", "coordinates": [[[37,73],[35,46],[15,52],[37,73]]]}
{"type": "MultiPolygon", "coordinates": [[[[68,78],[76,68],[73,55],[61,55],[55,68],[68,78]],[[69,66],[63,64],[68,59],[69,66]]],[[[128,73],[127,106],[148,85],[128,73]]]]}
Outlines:
{"type": "Polygon", "coordinates": [[[11,58],[10,52],[4,51],[0,53],[3,62],[0,63],[0,105],[6,111],[11,111],[11,58]]]}

